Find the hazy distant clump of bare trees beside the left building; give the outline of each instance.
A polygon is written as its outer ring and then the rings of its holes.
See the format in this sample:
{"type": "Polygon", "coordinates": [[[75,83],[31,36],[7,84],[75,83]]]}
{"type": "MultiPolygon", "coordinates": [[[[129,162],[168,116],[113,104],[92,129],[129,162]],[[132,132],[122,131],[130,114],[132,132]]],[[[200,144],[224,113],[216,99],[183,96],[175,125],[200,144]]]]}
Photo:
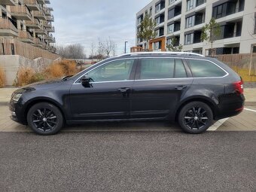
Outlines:
{"type": "Polygon", "coordinates": [[[81,44],[70,44],[67,46],[57,46],[56,53],[66,59],[84,59],[84,47],[81,44]]]}

